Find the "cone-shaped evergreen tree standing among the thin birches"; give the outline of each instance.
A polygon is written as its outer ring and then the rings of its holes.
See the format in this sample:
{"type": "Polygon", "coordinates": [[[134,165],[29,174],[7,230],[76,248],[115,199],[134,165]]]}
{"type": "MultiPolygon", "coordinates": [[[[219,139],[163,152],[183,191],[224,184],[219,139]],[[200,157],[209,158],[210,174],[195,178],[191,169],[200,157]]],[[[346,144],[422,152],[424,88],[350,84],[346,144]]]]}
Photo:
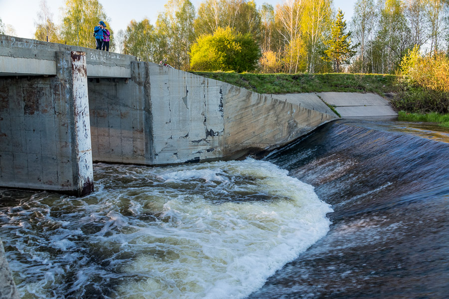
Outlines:
{"type": "Polygon", "coordinates": [[[343,20],[345,14],[338,9],[337,19],[332,25],[331,38],[324,42],[327,50],[321,57],[324,61],[331,62],[334,66],[334,72],[340,71],[340,65],[348,64],[352,56],[355,55],[356,46],[351,46],[351,31],[345,34],[346,21],[343,20]]]}

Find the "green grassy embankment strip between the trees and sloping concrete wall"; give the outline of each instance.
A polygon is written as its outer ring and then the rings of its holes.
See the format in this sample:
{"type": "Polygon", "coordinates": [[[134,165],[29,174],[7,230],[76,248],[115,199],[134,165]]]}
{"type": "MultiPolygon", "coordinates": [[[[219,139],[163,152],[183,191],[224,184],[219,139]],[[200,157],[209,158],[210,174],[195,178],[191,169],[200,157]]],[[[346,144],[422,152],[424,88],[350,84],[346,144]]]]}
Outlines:
{"type": "Polygon", "coordinates": [[[192,72],[259,94],[321,92],[375,93],[396,91],[395,75],[378,74],[251,74],[235,72],[192,72]]]}

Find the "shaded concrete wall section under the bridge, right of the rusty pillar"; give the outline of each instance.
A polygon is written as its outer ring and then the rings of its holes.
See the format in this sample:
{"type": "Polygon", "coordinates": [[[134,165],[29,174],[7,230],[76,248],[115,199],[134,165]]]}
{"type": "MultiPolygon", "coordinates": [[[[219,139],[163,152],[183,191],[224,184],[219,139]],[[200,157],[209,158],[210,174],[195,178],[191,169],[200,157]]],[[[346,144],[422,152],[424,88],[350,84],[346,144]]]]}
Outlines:
{"type": "Polygon", "coordinates": [[[132,79],[89,79],[94,161],[152,164],[149,80],[144,62],[135,62],[132,79]]]}

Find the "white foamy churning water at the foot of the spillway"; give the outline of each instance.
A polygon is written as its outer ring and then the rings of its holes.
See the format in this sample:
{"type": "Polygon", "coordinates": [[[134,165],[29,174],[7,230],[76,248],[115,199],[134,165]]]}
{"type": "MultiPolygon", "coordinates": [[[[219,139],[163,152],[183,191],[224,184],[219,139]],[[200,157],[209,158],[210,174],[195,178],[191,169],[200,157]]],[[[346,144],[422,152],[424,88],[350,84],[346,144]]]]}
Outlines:
{"type": "Polygon", "coordinates": [[[329,230],[330,206],[269,162],[94,171],[84,199],[1,207],[22,296],[244,298],[329,230]]]}

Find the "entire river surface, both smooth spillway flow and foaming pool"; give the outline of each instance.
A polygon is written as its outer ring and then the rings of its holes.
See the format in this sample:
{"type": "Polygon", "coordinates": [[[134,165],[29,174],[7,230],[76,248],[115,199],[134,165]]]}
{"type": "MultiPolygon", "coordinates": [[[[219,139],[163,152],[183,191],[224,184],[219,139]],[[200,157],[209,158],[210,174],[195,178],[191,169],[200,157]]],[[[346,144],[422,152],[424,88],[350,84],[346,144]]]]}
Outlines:
{"type": "Polygon", "coordinates": [[[328,123],[263,160],[94,165],[76,199],[0,190],[23,299],[443,299],[449,130],[328,123]]]}

